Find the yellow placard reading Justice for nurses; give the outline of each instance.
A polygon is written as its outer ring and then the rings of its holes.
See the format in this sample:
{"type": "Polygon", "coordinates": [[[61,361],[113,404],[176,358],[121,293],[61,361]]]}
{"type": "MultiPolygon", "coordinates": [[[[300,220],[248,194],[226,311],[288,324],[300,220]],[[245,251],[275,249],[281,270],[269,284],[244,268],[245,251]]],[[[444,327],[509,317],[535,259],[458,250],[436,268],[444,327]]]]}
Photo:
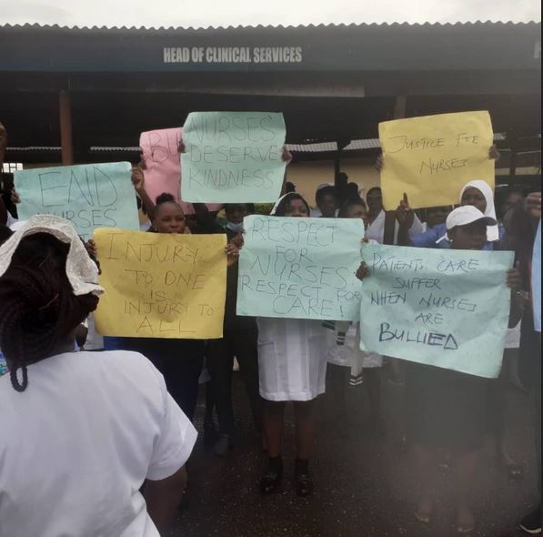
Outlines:
{"type": "Polygon", "coordinates": [[[458,204],[462,187],[483,179],[494,187],[492,123],[488,112],[397,119],[379,124],[386,210],[407,193],[411,208],[458,204]]]}

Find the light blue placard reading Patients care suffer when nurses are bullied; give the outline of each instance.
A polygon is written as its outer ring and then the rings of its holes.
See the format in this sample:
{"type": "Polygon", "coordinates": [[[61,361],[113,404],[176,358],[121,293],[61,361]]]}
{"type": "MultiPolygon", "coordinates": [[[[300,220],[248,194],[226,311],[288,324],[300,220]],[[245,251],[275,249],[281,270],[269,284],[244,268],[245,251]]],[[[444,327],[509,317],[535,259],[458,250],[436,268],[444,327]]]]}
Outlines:
{"type": "Polygon", "coordinates": [[[367,245],[360,348],[496,378],[513,252],[367,245]]]}

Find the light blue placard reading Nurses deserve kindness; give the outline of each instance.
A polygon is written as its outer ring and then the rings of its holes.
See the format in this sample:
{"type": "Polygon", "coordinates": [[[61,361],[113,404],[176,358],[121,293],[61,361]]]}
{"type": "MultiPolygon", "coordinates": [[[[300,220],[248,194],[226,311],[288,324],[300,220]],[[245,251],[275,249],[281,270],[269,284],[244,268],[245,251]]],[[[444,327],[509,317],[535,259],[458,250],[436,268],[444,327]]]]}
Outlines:
{"type": "Polygon", "coordinates": [[[285,177],[283,114],[192,112],[183,127],[181,198],[273,203],[285,177]]]}

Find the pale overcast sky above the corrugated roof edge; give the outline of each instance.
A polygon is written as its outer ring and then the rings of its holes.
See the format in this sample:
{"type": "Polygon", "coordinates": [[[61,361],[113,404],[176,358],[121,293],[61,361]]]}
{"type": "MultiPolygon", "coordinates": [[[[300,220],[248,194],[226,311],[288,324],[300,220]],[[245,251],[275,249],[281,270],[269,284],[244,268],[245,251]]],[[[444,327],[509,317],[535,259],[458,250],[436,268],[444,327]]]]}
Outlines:
{"type": "Polygon", "coordinates": [[[0,0],[0,24],[106,26],[528,22],[539,0],[0,0]]]}

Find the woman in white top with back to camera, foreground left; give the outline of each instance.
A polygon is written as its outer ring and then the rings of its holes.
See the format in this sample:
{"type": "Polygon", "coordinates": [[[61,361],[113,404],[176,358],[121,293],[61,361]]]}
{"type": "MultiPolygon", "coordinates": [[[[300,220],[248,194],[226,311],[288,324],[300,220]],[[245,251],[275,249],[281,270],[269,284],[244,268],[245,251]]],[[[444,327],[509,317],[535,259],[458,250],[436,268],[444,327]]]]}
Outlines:
{"type": "Polygon", "coordinates": [[[62,218],[0,247],[2,535],[157,537],[176,512],[196,430],[164,378],[135,352],[73,353],[97,277],[62,218]]]}

